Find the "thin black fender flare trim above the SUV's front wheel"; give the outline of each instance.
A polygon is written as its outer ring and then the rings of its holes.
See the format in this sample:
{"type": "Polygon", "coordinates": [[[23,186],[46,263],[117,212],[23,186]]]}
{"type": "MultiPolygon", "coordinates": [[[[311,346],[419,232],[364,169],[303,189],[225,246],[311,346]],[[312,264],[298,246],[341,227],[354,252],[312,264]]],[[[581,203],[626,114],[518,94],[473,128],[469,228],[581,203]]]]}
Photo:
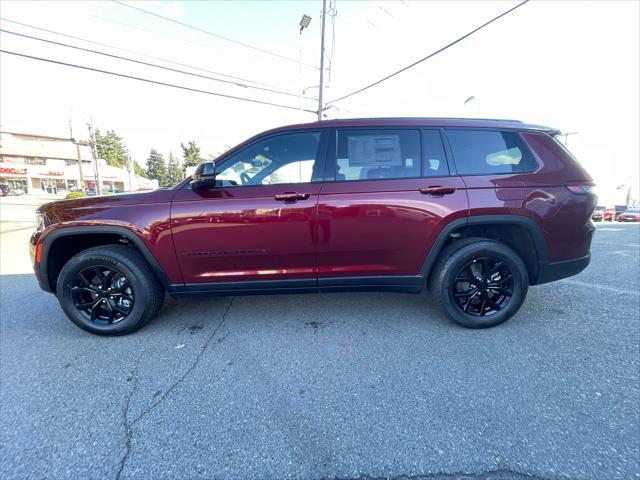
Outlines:
{"type": "Polygon", "coordinates": [[[164,270],[156,260],[156,258],[151,254],[145,243],[142,239],[136,235],[134,232],[125,227],[119,227],[115,225],[95,225],[90,227],[61,227],[52,232],[48,233],[44,239],[42,240],[42,258],[45,259],[44,262],[40,264],[40,270],[42,273],[43,280],[46,281],[47,285],[49,285],[49,275],[47,273],[47,265],[49,263],[49,249],[51,245],[62,237],[77,237],[82,235],[92,235],[95,233],[101,234],[113,234],[123,237],[130,241],[142,254],[144,259],[147,261],[155,275],[158,277],[158,280],[162,283],[162,285],[171,289],[173,287],[175,289],[175,285],[173,285],[167,275],[164,273],[164,270]]]}

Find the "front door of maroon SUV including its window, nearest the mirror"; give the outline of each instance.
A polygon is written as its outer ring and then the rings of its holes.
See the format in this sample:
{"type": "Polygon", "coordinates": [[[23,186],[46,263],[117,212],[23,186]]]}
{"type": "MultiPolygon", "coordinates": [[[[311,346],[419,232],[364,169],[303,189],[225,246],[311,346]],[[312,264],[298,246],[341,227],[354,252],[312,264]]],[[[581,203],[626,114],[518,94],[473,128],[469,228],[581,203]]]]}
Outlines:
{"type": "Polygon", "coordinates": [[[176,192],[171,229],[187,289],[277,288],[285,279],[316,285],[325,137],[298,131],[258,139],[216,163],[215,188],[176,192]]]}

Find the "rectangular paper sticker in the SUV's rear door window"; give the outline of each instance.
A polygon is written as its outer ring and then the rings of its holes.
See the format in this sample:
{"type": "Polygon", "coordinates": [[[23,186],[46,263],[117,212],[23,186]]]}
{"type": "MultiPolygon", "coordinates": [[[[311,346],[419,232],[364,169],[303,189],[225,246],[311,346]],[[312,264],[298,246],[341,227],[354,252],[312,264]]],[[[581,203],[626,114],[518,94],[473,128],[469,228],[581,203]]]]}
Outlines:
{"type": "Polygon", "coordinates": [[[401,166],[398,135],[358,135],[348,137],[349,166],[401,166]]]}

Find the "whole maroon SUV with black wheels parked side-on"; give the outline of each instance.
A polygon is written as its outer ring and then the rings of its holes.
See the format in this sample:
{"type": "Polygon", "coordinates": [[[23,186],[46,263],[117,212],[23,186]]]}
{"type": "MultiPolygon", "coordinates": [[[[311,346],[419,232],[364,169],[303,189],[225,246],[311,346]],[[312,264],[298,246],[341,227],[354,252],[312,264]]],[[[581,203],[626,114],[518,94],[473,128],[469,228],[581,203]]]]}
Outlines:
{"type": "Polygon", "coordinates": [[[428,287],[457,323],[515,314],[590,260],[589,174],[513,120],[332,120],[257,135],[172,190],[48,203],[41,287],[79,327],[132,332],[174,297],[428,287]]]}

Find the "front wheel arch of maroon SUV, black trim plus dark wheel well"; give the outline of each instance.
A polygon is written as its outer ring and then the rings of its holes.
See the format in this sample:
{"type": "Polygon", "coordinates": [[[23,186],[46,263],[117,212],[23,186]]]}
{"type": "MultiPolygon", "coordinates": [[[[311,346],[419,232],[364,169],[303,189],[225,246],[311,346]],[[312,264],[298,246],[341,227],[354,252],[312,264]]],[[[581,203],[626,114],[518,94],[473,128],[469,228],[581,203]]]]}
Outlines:
{"type": "Polygon", "coordinates": [[[56,281],[62,266],[76,253],[99,245],[128,244],[135,248],[151,267],[160,283],[167,289],[171,282],[142,239],[125,227],[96,225],[91,227],[63,227],[50,232],[42,242],[41,277],[55,293],[56,281]]]}

